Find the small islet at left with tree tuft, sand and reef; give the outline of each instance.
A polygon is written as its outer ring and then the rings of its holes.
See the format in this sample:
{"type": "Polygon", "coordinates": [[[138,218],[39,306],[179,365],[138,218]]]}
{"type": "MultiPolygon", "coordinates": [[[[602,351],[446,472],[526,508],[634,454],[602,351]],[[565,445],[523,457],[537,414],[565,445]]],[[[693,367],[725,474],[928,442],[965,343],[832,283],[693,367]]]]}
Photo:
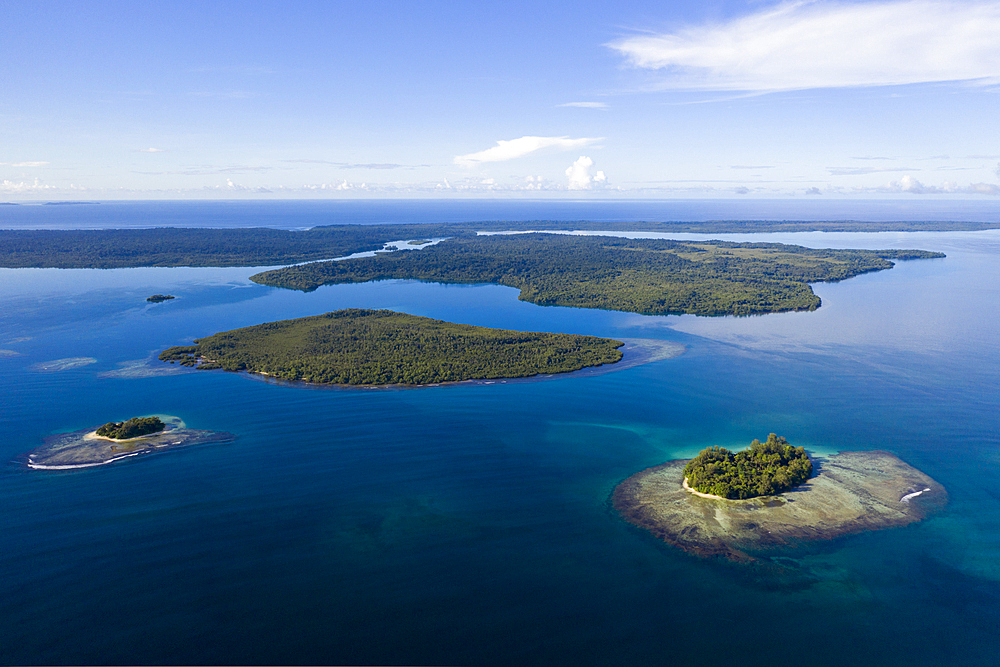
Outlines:
{"type": "Polygon", "coordinates": [[[140,454],[234,439],[233,434],[224,431],[189,429],[179,417],[172,415],[134,417],[50,436],[44,445],[28,454],[27,466],[36,470],[90,468],[140,454]],[[152,428],[156,430],[149,430],[152,428]],[[134,435],[141,431],[145,433],[134,435]]]}

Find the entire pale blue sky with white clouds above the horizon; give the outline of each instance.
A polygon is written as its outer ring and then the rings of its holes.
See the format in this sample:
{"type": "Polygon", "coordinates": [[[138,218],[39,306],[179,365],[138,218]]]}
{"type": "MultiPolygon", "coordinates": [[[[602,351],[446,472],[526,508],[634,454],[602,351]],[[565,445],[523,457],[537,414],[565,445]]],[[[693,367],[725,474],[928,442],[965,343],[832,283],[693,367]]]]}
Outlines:
{"type": "Polygon", "coordinates": [[[1000,197],[1000,2],[45,2],[0,200],[1000,197]]]}

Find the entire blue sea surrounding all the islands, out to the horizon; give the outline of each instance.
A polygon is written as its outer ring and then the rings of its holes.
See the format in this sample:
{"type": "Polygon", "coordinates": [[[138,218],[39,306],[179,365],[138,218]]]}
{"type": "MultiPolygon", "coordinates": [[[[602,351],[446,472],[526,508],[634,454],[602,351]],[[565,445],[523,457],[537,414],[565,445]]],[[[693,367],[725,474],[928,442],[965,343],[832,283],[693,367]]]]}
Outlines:
{"type": "MultiPolygon", "coordinates": [[[[998,206],[0,207],[0,228],[48,229],[742,218],[997,220],[998,206]]],[[[1000,230],[708,238],[948,256],[814,285],[816,312],[751,318],[539,307],[490,285],[304,294],[251,283],[260,268],[0,269],[0,663],[1000,664],[1000,230]],[[146,303],[154,293],[177,298],[146,303]],[[155,360],[346,307],[686,351],[599,375],[405,390],[155,360]],[[24,465],[51,434],[153,413],[237,437],[88,469],[24,465]],[[771,432],[817,456],[891,451],[949,504],[790,547],[773,554],[780,569],[687,555],[609,507],[639,470],[771,432]]]]}

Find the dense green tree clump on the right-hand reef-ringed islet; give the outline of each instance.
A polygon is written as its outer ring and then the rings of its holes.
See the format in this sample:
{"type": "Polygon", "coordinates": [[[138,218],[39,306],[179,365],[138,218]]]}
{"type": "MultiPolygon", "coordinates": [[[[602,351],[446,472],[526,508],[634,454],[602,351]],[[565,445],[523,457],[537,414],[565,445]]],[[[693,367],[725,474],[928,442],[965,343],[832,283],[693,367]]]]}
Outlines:
{"type": "Polygon", "coordinates": [[[684,477],[695,491],[732,500],[784,493],[809,479],[812,470],[804,448],[772,433],[737,454],[723,447],[703,449],[684,466],[684,477]]]}

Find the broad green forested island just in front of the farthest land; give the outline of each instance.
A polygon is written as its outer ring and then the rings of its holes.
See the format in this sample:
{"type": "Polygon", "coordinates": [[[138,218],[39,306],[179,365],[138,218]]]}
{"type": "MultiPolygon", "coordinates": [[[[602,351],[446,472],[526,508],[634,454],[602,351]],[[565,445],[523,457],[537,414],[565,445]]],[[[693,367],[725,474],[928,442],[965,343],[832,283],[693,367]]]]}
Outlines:
{"type": "Polygon", "coordinates": [[[653,315],[756,315],[815,310],[808,283],[843,280],[923,251],[814,250],[777,243],[679,242],[599,236],[463,236],[417,252],[317,262],[258,273],[264,285],[385,279],[499,283],[539,305],[653,315]]]}

